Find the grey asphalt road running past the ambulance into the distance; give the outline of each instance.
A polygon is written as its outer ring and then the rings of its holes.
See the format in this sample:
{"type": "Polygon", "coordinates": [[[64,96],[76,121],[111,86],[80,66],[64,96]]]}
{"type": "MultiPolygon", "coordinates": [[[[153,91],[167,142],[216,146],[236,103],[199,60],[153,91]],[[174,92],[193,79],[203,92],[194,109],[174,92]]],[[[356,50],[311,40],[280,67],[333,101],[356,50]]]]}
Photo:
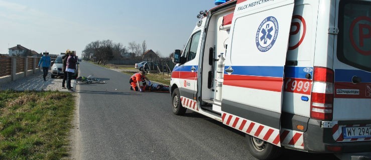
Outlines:
{"type": "MultiPolygon", "coordinates": [[[[136,92],[130,75],[80,62],[80,76],[105,84],[77,84],[81,159],[256,159],[244,134],[187,111],[171,111],[170,94],[136,92]]],[[[336,159],[331,154],[285,151],[281,159],[336,159]]]]}

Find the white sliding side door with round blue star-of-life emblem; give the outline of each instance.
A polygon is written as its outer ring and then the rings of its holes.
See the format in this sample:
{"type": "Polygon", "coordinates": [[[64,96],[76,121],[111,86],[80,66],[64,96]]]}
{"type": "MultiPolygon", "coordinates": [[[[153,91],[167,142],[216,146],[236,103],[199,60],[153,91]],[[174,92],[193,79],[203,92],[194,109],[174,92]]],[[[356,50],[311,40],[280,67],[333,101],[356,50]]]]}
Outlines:
{"type": "Polygon", "coordinates": [[[277,146],[294,0],[237,0],[225,54],[222,121],[277,146]]]}

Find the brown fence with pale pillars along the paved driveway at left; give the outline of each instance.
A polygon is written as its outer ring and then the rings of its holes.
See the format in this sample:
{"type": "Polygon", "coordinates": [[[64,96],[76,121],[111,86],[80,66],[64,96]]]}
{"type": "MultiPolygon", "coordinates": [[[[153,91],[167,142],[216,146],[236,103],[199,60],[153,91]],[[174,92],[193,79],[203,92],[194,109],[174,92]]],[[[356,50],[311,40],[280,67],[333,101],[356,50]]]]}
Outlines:
{"type": "Polygon", "coordinates": [[[39,71],[41,57],[0,57],[0,84],[10,82],[39,71]]]}

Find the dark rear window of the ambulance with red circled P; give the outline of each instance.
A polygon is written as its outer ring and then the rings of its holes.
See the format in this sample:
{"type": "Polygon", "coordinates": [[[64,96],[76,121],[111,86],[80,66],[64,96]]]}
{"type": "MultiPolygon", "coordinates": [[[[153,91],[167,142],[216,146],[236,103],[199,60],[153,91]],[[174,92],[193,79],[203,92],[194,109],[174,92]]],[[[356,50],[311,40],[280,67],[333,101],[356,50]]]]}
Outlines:
{"type": "Polygon", "coordinates": [[[341,0],[337,58],[371,71],[371,2],[341,0]]]}

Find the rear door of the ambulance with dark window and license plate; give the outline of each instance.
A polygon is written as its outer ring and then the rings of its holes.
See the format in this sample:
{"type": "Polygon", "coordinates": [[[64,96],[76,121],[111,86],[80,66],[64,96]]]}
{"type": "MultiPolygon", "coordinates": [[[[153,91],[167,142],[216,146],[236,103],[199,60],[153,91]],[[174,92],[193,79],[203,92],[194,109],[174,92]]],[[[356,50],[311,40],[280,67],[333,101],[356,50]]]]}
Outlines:
{"type": "Polygon", "coordinates": [[[371,0],[341,0],[336,6],[333,138],[345,143],[370,141],[371,0]]]}

